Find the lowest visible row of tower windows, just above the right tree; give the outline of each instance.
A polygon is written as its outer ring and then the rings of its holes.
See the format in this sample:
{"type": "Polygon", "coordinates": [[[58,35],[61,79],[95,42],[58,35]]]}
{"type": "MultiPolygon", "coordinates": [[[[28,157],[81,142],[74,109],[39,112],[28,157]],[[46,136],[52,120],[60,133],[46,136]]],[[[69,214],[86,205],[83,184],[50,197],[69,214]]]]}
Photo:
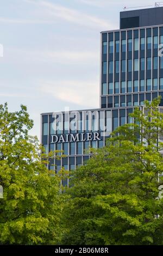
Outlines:
{"type": "MultiPolygon", "coordinates": [[[[163,93],[159,93],[163,99],[163,93]]],[[[101,107],[112,108],[112,107],[128,107],[128,106],[143,106],[144,101],[148,100],[151,102],[153,99],[158,97],[158,93],[140,93],[140,94],[127,94],[102,97],[101,107]]],[[[160,106],[163,106],[163,100],[161,100],[160,106]]]]}

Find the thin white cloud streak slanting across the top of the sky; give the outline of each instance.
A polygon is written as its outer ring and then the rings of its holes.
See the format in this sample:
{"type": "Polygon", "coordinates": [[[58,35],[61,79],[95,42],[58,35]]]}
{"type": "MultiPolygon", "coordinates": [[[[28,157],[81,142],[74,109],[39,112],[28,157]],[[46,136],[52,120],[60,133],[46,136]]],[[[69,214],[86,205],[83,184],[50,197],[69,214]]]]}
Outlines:
{"type": "Polygon", "coordinates": [[[110,23],[106,20],[86,14],[76,9],[67,8],[60,4],[51,3],[44,0],[31,1],[26,0],[27,3],[36,4],[37,7],[41,7],[48,19],[59,18],[68,22],[73,22],[78,25],[87,26],[91,28],[103,28],[103,29],[114,29],[114,23],[110,23]]]}

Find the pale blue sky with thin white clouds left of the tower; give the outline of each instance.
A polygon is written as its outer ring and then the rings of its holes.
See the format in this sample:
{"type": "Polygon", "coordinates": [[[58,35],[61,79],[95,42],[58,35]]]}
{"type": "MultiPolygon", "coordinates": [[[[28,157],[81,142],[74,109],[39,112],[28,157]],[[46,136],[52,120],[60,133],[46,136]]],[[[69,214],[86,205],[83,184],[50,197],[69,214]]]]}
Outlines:
{"type": "Polygon", "coordinates": [[[141,5],[154,1],[0,0],[0,103],[26,105],[38,138],[40,113],[98,108],[100,32],[141,5]]]}

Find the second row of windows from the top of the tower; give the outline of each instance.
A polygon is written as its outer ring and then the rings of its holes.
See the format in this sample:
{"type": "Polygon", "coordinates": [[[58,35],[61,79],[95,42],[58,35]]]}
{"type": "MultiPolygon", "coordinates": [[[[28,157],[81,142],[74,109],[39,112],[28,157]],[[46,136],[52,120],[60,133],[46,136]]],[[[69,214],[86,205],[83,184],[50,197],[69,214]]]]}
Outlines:
{"type": "MultiPolygon", "coordinates": [[[[103,75],[107,74],[107,62],[103,62],[103,75]]],[[[128,60],[116,60],[115,62],[108,63],[108,72],[109,74],[116,74],[120,72],[132,72],[132,71],[144,71],[144,70],[156,70],[163,69],[163,57],[148,57],[148,58],[140,58],[140,59],[128,59],[128,60]],[[152,61],[153,60],[153,61],[152,61]],[[159,62],[158,62],[159,60],[159,62]],[[121,69],[120,69],[121,63],[121,69]]]]}

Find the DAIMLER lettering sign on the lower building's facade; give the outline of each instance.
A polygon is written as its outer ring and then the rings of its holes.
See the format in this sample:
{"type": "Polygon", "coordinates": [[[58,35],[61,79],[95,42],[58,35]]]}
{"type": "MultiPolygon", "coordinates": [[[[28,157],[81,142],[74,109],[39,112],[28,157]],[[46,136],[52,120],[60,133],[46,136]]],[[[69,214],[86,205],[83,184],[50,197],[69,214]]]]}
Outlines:
{"type": "Polygon", "coordinates": [[[52,135],[51,143],[101,141],[99,132],[52,135]]]}

